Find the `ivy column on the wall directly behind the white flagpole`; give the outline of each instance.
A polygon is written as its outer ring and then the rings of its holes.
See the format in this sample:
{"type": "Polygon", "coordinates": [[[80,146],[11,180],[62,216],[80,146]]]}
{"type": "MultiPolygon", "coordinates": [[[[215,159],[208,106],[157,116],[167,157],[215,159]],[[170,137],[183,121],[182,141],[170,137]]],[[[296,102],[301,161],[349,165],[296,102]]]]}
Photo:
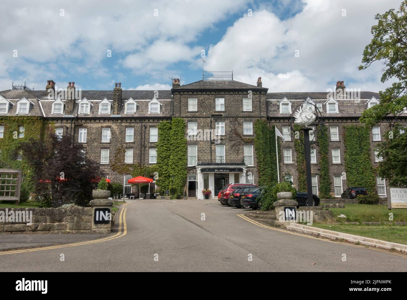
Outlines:
{"type": "MultiPolygon", "coordinates": [[[[254,122],[254,149],[256,150],[259,185],[274,185],[278,182],[276,158],[276,131],[266,120],[254,122]]],[[[279,143],[278,143],[279,147],[279,143]]]]}

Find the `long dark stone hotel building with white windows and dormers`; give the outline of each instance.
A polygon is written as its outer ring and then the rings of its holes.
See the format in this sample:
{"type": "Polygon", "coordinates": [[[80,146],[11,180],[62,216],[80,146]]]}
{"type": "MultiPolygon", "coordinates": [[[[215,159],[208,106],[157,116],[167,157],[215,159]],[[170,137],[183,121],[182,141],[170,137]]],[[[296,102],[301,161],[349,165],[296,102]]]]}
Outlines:
{"type": "MultiPolygon", "coordinates": [[[[226,183],[258,183],[256,151],[253,143],[237,145],[231,142],[231,131],[254,138],[254,122],[266,120],[276,125],[284,135],[280,140],[280,180],[290,176],[298,186],[296,154],[293,138],[289,135],[290,114],[303,100],[315,103],[325,117],[329,136],[329,169],[331,194],[340,196],[347,188],[341,174],[345,171],[344,125],[358,124],[364,109],[379,104],[379,94],[360,92],[360,99],[327,98],[327,92],[273,93],[262,86],[261,78],[256,85],[229,80],[200,80],[180,85],[178,79],[168,91],[127,91],[121,84],[111,91],[81,91],[75,100],[75,83],[70,82],[64,99],[48,98],[48,90],[55,89],[55,82],[40,91],[27,89],[0,92],[0,114],[4,116],[38,116],[55,124],[55,133],[74,136],[85,149],[86,159],[100,162],[101,169],[114,182],[124,184],[124,192],[130,193],[129,174],[118,174],[111,169],[116,150],[124,146],[126,163],[144,165],[157,162],[157,126],[173,117],[186,122],[188,171],[185,186],[188,197],[203,199],[201,191],[209,188],[216,198],[226,183]]],[[[337,91],[344,91],[344,82],[337,82],[337,91]]],[[[403,113],[401,122],[406,123],[403,113]]],[[[0,124],[0,138],[4,127],[0,124]]],[[[374,153],[374,145],[380,142],[388,130],[387,120],[376,124],[370,133],[371,161],[373,167],[381,158],[374,153]]],[[[19,129],[24,132],[24,128],[19,129]]],[[[249,139],[250,140],[250,139],[249,139]]],[[[317,146],[315,146],[317,148],[317,146]]],[[[311,157],[313,191],[319,192],[319,154],[311,157]]],[[[380,196],[386,196],[386,182],[376,178],[380,196]]],[[[138,193],[136,187],[133,193],[138,193]]]]}

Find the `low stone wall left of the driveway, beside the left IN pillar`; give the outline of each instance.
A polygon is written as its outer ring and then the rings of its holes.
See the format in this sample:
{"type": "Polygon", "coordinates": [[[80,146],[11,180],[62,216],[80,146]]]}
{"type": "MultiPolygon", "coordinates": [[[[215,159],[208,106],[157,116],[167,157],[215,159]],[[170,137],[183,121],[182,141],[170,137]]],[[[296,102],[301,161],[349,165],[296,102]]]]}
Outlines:
{"type": "MultiPolygon", "coordinates": [[[[92,207],[65,208],[8,208],[10,211],[32,211],[32,224],[0,222],[0,233],[90,233],[92,207]]],[[[6,213],[6,208],[0,208],[6,213]]]]}

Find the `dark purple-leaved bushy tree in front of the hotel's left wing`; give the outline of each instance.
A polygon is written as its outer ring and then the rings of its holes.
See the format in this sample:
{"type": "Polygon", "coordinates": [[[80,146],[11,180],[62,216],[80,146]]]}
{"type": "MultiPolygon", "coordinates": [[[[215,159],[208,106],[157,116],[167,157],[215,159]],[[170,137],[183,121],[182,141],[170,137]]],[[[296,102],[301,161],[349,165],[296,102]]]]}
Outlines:
{"type": "Polygon", "coordinates": [[[33,168],[35,197],[42,207],[89,204],[95,178],[103,173],[99,164],[85,160],[81,144],[68,135],[60,138],[49,134],[41,140],[23,142],[21,149],[33,168]]]}

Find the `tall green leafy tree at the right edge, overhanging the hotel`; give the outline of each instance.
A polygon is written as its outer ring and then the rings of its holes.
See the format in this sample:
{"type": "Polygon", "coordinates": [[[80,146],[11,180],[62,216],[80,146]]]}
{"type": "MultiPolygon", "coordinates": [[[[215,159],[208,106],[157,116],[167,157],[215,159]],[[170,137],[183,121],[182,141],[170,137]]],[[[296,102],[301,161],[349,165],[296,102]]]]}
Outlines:
{"type": "Polygon", "coordinates": [[[386,119],[390,131],[385,142],[379,144],[379,154],[383,162],[379,163],[377,173],[389,180],[391,185],[407,185],[405,162],[407,138],[399,131],[398,120],[407,107],[407,0],[400,4],[398,11],[390,9],[383,15],[377,14],[377,25],[372,27],[372,41],[363,51],[362,65],[359,70],[367,69],[375,61],[383,63],[381,82],[397,80],[391,87],[380,91],[380,104],[363,111],[360,121],[366,126],[386,119]]]}

